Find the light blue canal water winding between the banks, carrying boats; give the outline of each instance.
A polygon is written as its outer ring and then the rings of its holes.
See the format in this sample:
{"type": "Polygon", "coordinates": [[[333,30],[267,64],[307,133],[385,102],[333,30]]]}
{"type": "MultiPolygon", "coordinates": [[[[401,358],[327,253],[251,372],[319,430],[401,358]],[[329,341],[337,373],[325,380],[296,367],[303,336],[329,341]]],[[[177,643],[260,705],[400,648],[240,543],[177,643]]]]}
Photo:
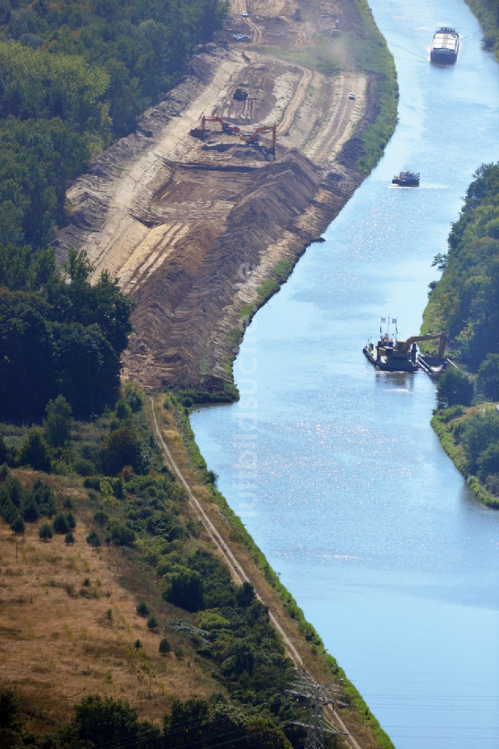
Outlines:
{"type": "Polygon", "coordinates": [[[399,76],[379,166],[254,318],[242,398],[192,426],[218,486],[397,749],[499,747],[499,512],[444,455],[423,372],[376,372],[381,315],[418,333],[437,252],[498,160],[498,65],[459,0],[371,0],[399,76]],[[429,63],[438,25],[455,66],[429,63]],[[418,189],[391,187],[421,173],[418,189]]]}

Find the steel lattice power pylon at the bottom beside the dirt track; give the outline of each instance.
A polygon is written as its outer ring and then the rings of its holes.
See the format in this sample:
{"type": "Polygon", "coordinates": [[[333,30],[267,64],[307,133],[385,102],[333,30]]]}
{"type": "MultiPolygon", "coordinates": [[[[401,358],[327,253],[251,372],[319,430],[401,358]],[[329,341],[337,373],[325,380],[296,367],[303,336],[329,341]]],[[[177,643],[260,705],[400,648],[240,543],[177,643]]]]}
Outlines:
{"type": "Polygon", "coordinates": [[[324,716],[325,705],[337,705],[338,707],[348,707],[346,703],[338,699],[342,697],[343,679],[337,679],[325,685],[317,684],[311,676],[304,671],[295,670],[296,676],[293,682],[293,688],[288,690],[289,694],[297,699],[308,701],[308,723],[303,721],[293,721],[296,726],[307,728],[307,741],[305,749],[324,749],[324,735],[348,736],[328,721],[324,716]]]}

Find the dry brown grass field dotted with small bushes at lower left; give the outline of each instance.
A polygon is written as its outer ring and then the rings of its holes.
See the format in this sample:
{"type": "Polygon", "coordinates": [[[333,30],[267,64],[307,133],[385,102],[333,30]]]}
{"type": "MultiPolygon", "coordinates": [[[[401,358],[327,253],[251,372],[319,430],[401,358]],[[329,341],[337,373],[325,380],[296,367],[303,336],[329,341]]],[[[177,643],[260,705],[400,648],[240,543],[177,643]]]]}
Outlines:
{"type": "MultiPolygon", "coordinates": [[[[85,507],[78,505],[78,494],[84,502],[86,492],[67,491],[78,519],[72,546],[58,535],[41,541],[40,523],[26,524],[16,545],[0,522],[0,688],[16,692],[25,728],[60,726],[89,693],[126,698],[139,718],[160,723],[172,697],[220,691],[186,637],[168,631],[172,652],[159,655],[164,635],[147,630],[135,610],[141,598],[121,584],[128,578],[137,588],[134,571],[119,549],[88,545],[85,507]],[[135,647],[138,639],[141,648],[135,647]],[[173,651],[179,647],[184,655],[177,658],[173,651]]],[[[156,590],[158,601],[161,592],[156,590]]],[[[154,595],[145,593],[156,613],[154,595]]]]}

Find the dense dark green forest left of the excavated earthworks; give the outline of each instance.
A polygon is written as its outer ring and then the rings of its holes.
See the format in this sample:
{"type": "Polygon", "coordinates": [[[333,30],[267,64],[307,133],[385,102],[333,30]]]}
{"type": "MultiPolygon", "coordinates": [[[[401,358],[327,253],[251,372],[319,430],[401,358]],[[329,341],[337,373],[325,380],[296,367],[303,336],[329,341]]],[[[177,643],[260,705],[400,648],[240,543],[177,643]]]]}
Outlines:
{"type": "Polygon", "coordinates": [[[130,304],[83,255],[49,243],[66,189],[128,133],[220,28],[219,0],[0,0],[0,418],[79,416],[117,396],[130,304]],[[36,376],[35,376],[36,375],[36,376]]]}

